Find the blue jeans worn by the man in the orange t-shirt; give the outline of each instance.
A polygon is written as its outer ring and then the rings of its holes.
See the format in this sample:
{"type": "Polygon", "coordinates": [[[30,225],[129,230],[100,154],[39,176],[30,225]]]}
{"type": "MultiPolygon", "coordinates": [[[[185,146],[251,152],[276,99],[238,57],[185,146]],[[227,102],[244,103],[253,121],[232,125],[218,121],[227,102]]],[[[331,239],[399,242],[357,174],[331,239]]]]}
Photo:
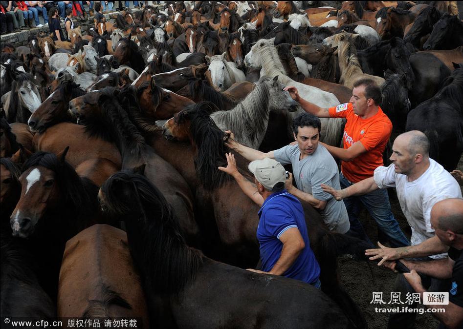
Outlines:
{"type": "MultiPolygon", "coordinates": [[[[353,185],[341,173],[339,175],[339,183],[341,188],[346,188],[353,185]]],[[[343,200],[346,205],[347,213],[349,214],[349,221],[351,222],[351,229],[346,233],[347,235],[364,240],[375,247],[375,245],[368,238],[362,224],[358,220],[358,214],[363,207],[365,207],[370,215],[375,219],[379,229],[387,236],[391,247],[409,246],[405,234],[403,234],[397,220],[391,211],[389,204],[389,196],[387,190],[378,189],[365,195],[353,196],[343,200]]]]}

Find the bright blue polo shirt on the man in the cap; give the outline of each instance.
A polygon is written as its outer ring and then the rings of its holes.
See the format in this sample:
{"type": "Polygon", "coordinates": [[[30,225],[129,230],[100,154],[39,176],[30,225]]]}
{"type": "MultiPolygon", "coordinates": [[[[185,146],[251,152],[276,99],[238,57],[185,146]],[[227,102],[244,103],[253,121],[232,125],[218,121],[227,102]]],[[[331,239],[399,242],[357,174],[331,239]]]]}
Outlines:
{"type": "Polygon", "coordinates": [[[299,200],[287,190],[271,194],[259,210],[257,239],[261,252],[262,270],[270,271],[281,256],[283,243],[280,236],[289,228],[297,227],[306,247],[283,276],[309,284],[320,276],[320,266],[310,248],[304,210],[299,200]]]}

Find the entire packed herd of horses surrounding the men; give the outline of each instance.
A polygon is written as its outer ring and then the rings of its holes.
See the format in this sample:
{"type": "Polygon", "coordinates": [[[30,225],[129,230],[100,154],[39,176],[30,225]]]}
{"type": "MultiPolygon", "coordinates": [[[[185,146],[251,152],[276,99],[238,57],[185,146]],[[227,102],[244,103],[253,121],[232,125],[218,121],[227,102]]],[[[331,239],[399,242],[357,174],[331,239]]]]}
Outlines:
{"type": "MultiPolygon", "coordinates": [[[[87,34],[77,27],[69,42],[2,44],[2,318],[367,328],[337,266],[367,246],[330,232],[307,203],[322,289],[243,269],[259,260],[259,208],[218,170],[225,131],[279,148],[303,111],[285,86],[331,107],[370,78],[394,136],[423,131],[431,157],[455,169],[455,2],[166,1],[95,21],[87,34]]],[[[343,126],[322,119],[321,140],[340,145],[343,126]]]]}

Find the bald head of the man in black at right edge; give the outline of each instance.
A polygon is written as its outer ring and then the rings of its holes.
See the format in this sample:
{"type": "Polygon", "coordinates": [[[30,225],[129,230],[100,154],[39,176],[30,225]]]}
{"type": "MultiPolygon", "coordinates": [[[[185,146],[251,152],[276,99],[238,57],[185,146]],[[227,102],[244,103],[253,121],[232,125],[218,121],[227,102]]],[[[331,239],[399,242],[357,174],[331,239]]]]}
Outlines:
{"type": "Polygon", "coordinates": [[[436,203],[431,210],[431,222],[443,231],[463,234],[463,199],[445,199],[436,203]]]}

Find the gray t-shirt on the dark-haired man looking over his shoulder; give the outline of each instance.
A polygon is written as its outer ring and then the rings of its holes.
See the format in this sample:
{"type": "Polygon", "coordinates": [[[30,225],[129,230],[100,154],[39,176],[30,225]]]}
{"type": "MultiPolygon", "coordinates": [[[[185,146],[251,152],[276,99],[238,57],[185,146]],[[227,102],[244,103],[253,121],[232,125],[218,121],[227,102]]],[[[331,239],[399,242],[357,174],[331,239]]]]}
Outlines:
{"type": "Polygon", "coordinates": [[[322,144],[318,144],[313,154],[299,160],[299,146],[287,145],[274,151],[275,160],[286,165],[291,164],[297,187],[320,201],[326,201],[325,209],[320,211],[328,229],[338,233],[346,233],[350,228],[349,216],[344,202],[338,202],[321,188],[321,184],[341,189],[339,172],[330,152],[322,144]]]}

